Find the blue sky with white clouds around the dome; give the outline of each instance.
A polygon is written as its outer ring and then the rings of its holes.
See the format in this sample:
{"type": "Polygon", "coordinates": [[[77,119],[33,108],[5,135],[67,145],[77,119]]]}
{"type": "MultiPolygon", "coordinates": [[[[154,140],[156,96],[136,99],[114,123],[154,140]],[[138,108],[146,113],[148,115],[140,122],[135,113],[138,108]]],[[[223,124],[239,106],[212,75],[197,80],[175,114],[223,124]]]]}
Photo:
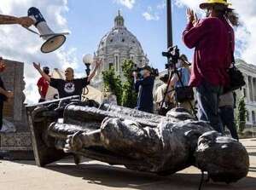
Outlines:
{"type": "MultiPolygon", "coordinates": [[[[197,12],[201,1],[204,0],[172,0],[173,3],[189,6],[197,12]]],[[[241,26],[236,29],[237,58],[255,64],[256,1],[229,2],[241,20],[241,26]]],[[[67,43],[61,49],[45,55],[40,52],[44,42],[41,38],[20,26],[3,25],[0,27],[0,55],[25,63],[26,101],[36,102],[38,89],[35,78],[39,78],[39,74],[33,68],[32,62],[41,62],[42,66],[61,70],[72,66],[76,77],[83,76],[82,56],[96,51],[98,43],[111,30],[113,19],[121,9],[125,26],[142,43],[150,63],[163,70],[166,64],[166,58],[161,55],[166,50],[166,8],[162,6],[163,3],[165,0],[1,0],[0,14],[24,16],[27,9],[35,6],[44,14],[54,32],[70,30],[72,33],[67,36],[67,43]]],[[[182,53],[189,55],[191,60],[193,50],[184,47],[181,41],[186,25],[185,8],[173,5],[172,11],[174,44],[178,45],[182,53]]],[[[36,30],[34,27],[32,29],[36,30]]]]}

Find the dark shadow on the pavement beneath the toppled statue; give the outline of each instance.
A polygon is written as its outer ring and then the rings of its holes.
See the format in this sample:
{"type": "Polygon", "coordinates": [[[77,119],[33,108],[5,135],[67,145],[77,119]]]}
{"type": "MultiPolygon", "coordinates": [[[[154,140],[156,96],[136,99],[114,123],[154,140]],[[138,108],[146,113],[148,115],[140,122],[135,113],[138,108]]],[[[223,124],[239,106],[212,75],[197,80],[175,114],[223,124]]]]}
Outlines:
{"type": "MultiPolygon", "coordinates": [[[[80,177],[88,183],[103,186],[102,189],[104,187],[129,187],[138,190],[192,190],[198,189],[201,180],[201,174],[178,173],[164,177],[104,164],[80,164],[79,166],[51,164],[46,168],[69,176],[80,177]]],[[[230,185],[210,182],[205,184],[202,189],[255,190],[255,187],[256,178],[247,177],[230,185]]]]}

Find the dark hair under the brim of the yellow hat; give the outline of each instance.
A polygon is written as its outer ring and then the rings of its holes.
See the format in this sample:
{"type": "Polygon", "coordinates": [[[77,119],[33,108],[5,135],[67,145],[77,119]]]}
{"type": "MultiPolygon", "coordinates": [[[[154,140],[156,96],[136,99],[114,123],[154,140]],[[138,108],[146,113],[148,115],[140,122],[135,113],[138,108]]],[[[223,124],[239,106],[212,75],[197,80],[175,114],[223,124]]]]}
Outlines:
{"type": "Polygon", "coordinates": [[[215,3],[212,9],[216,11],[218,17],[224,17],[232,26],[239,26],[238,14],[233,9],[229,9],[226,5],[215,3]]]}

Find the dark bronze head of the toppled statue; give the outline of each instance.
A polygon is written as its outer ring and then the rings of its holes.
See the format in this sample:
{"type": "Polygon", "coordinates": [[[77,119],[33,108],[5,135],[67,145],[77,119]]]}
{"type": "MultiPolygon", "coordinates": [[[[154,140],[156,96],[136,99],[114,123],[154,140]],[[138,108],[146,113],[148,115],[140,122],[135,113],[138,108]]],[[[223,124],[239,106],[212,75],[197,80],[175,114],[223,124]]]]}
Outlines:
{"type": "Polygon", "coordinates": [[[247,176],[249,158],[239,141],[209,131],[200,136],[195,152],[196,166],[213,181],[235,182],[247,176]]]}

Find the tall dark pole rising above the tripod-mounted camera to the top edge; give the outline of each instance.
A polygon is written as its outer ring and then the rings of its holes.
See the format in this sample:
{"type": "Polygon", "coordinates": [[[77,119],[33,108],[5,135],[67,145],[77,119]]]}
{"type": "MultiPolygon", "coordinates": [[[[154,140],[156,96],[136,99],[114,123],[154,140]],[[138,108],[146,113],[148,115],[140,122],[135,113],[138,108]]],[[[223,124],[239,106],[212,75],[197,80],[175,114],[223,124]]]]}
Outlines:
{"type": "Polygon", "coordinates": [[[167,49],[173,46],[172,40],[172,0],[166,0],[166,17],[167,17],[167,49]]]}

